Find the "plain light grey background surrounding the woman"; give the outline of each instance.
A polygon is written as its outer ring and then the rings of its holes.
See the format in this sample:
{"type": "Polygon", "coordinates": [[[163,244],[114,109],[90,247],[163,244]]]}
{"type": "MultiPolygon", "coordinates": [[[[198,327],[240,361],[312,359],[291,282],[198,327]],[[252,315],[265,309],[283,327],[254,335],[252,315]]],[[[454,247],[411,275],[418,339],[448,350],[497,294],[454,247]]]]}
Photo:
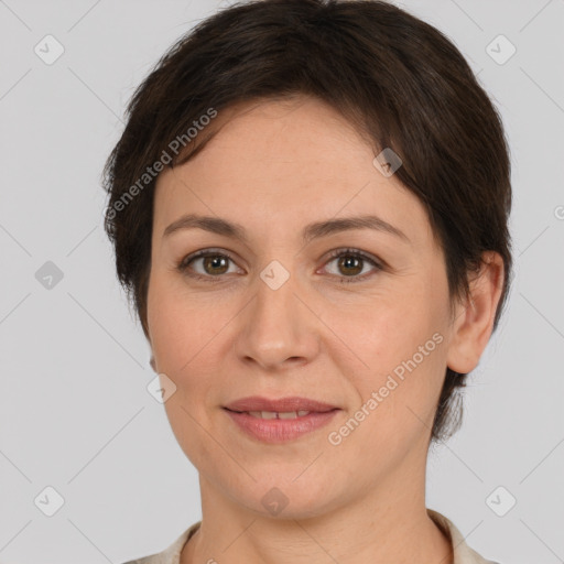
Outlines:
{"type": "MultiPolygon", "coordinates": [[[[134,87],[219,4],[0,0],[3,564],[120,563],[200,519],[197,473],[145,389],[155,375],[116,280],[100,173],[134,87]],[[65,50],[51,65],[34,52],[47,34],[65,50]],[[47,261],[63,273],[51,289],[35,275],[47,261]],[[52,517],[48,486],[64,499],[52,517]]],[[[430,456],[427,507],[488,558],[563,562],[564,1],[398,4],[465,54],[501,111],[513,166],[509,306],[470,378],[463,429],[430,456]],[[499,34],[517,48],[503,64],[499,34]]]]}

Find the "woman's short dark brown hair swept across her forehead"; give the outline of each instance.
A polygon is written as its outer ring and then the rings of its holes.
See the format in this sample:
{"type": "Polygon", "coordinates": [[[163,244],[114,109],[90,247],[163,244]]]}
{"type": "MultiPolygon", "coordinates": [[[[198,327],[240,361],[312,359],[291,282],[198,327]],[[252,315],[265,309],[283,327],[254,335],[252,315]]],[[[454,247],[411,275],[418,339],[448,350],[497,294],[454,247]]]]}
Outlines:
{"type": "MultiPolygon", "coordinates": [[[[104,170],[105,229],[145,336],[156,176],[150,165],[166,162],[165,153],[174,166],[199,152],[213,124],[197,128],[197,143],[187,131],[210,109],[294,95],[328,102],[375,154],[390,148],[401,158],[395,175],[426,209],[445,254],[451,303],[468,297],[468,273],[482,252],[500,253],[495,330],[512,267],[509,147],[464,56],[438,30],[384,1],[256,0],[204,20],[162,56],[133,94],[104,170]]],[[[447,368],[432,440],[459,427],[457,389],[466,376],[447,368]]]]}

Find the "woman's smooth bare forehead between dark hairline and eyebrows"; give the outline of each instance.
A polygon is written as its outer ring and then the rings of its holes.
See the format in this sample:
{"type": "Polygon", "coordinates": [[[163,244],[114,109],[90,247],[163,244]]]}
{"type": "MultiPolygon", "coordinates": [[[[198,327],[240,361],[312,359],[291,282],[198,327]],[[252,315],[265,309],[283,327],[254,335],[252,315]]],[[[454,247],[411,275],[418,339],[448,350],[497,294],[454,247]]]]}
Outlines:
{"type": "Polygon", "coordinates": [[[181,212],[272,226],[281,218],[286,230],[305,215],[311,221],[375,213],[404,231],[426,220],[415,196],[373,166],[361,134],[316,98],[238,104],[209,128],[200,152],[158,178],[161,231],[181,212]]]}

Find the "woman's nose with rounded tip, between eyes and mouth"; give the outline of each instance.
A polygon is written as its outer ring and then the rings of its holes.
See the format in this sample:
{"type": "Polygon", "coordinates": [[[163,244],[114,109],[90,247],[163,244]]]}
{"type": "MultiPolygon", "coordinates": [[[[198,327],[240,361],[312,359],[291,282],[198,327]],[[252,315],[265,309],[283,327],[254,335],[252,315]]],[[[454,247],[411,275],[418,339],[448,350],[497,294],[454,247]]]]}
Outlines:
{"type": "Polygon", "coordinates": [[[279,288],[264,280],[257,280],[254,296],[237,316],[235,352],[268,371],[311,362],[321,340],[313,299],[292,275],[279,288]]]}

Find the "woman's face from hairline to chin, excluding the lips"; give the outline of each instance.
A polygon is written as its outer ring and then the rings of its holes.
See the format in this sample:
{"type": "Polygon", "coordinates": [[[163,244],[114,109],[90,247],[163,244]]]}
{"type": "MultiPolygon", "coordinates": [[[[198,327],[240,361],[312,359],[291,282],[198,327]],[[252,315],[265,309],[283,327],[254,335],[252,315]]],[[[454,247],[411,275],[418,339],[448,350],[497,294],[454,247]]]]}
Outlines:
{"type": "Polygon", "coordinates": [[[235,106],[219,123],[159,176],[154,199],[148,327],[155,370],[176,386],[165,410],[178,444],[221,496],[261,513],[274,487],[295,517],[405,488],[424,467],[452,338],[424,208],[318,100],[235,106]],[[165,235],[187,214],[245,237],[194,225],[165,235]],[[365,216],[391,227],[330,224],[365,216]],[[254,395],[338,409],[269,442],[225,409],[254,395]]]}

